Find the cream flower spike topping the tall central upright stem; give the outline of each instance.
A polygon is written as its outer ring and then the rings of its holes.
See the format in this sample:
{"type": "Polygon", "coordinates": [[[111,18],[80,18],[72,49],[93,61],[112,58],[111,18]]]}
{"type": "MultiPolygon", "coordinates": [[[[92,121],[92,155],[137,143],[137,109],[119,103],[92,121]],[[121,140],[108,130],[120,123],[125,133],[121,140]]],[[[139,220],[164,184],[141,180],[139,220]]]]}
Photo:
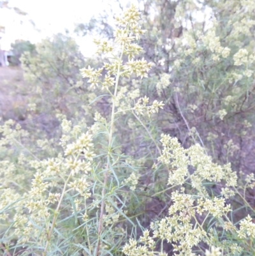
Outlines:
{"type": "MultiPolygon", "coordinates": [[[[110,91],[110,88],[115,85],[115,88],[119,84],[119,77],[131,77],[135,73],[136,77],[148,77],[148,72],[152,68],[152,63],[147,63],[147,61],[142,59],[133,59],[138,55],[142,48],[134,43],[135,40],[139,40],[140,36],[145,33],[141,29],[138,21],[140,19],[139,12],[136,10],[134,5],[131,5],[127,11],[124,12],[122,17],[117,18],[117,29],[115,30],[115,43],[116,46],[110,47],[109,43],[106,41],[95,40],[96,45],[98,45],[98,52],[112,54],[105,62],[103,68],[94,70],[90,66],[88,68],[83,68],[81,71],[84,78],[88,78],[88,82],[91,83],[91,87],[96,87],[101,85],[102,89],[106,89],[110,92],[112,96],[112,101],[115,107],[118,107],[117,113],[126,113],[126,110],[135,110],[136,114],[143,115],[143,112],[147,112],[148,116],[157,113],[159,109],[163,109],[163,102],[158,102],[154,100],[152,105],[147,105],[149,103],[149,98],[146,96],[138,99],[135,106],[132,107],[135,98],[140,96],[140,90],[136,89],[132,92],[128,92],[127,86],[121,86],[118,91],[114,90],[114,93],[110,91]],[[116,57],[115,53],[120,52],[120,57],[116,57]],[[123,56],[128,56],[128,61],[123,62],[123,56]],[[103,70],[107,73],[104,79],[99,79],[103,70]]],[[[162,82],[164,82],[164,87],[166,83],[166,75],[164,76],[162,82]]]]}

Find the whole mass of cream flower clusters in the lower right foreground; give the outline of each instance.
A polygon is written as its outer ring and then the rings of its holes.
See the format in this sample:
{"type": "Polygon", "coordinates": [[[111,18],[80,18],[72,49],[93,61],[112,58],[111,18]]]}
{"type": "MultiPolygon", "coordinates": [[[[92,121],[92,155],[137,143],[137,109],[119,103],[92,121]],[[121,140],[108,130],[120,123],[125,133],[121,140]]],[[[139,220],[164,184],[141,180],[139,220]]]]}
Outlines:
{"type": "MultiPolygon", "coordinates": [[[[126,255],[160,255],[163,251],[154,252],[154,241],[159,239],[166,240],[179,254],[173,255],[191,255],[195,256],[193,248],[200,243],[207,243],[210,250],[206,250],[205,255],[221,255],[221,248],[214,246],[214,234],[206,231],[203,224],[200,225],[198,217],[203,218],[203,223],[207,218],[221,220],[226,218],[223,228],[226,231],[236,232],[239,237],[254,237],[254,223],[250,216],[240,223],[240,230],[237,231],[235,226],[228,221],[228,213],[231,211],[230,204],[226,204],[226,199],[235,195],[231,188],[237,186],[237,174],[233,172],[230,165],[220,166],[212,162],[204,149],[196,144],[183,149],[176,138],[170,135],[161,135],[163,150],[159,156],[159,162],[170,167],[168,184],[172,186],[182,185],[179,191],[171,193],[171,206],[168,209],[168,216],[152,222],[150,228],[153,236],[147,238],[146,242],[143,237],[138,242],[130,240],[123,248],[126,255]],[[218,197],[212,199],[208,195],[205,183],[207,182],[225,182],[222,192],[218,197]],[[185,192],[185,183],[188,182],[194,188],[193,195],[185,192]],[[194,224],[195,223],[195,224],[194,224]],[[231,225],[230,225],[231,224],[231,225]],[[143,254],[144,253],[144,254],[143,254]]],[[[251,183],[254,177],[247,178],[251,183]]],[[[219,222],[217,225],[221,225],[219,222]]],[[[146,232],[149,234],[149,231],[146,232]]],[[[222,248],[228,248],[230,245],[222,243],[222,248]]],[[[233,248],[232,248],[233,249],[233,248]]],[[[231,249],[231,250],[232,250],[231,249]]],[[[240,248],[232,251],[238,252],[240,248]]]]}

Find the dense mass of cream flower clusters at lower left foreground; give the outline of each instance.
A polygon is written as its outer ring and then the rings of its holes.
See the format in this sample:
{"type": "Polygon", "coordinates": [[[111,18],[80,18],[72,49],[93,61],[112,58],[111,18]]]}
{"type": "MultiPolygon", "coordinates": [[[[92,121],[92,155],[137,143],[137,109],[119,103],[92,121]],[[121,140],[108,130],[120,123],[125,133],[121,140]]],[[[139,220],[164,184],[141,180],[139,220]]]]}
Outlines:
{"type": "MultiPolygon", "coordinates": [[[[79,197],[84,200],[91,196],[89,176],[94,157],[92,135],[89,132],[83,132],[80,123],[73,126],[66,117],[59,117],[62,119],[60,145],[63,147],[63,154],[45,160],[29,160],[24,153],[21,153],[18,156],[18,166],[7,160],[0,162],[1,185],[7,187],[11,184],[11,186],[17,187],[15,189],[4,188],[1,193],[1,209],[9,204],[15,204],[11,211],[8,210],[1,215],[1,219],[13,219],[14,230],[12,232],[18,236],[17,243],[19,245],[33,242],[34,237],[38,237],[37,245],[45,245],[50,229],[49,221],[52,220],[52,216],[59,214],[58,211],[54,213],[52,209],[62,200],[60,193],[62,188],[60,190],[59,186],[62,185],[64,179],[69,180],[69,191],[73,190],[77,194],[74,201],[77,209],[81,209],[79,197]],[[22,169],[26,169],[26,177],[18,173],[22,169]],[[31,186],[23,186],[26,184],[24,181],[31,176],[33,176],[31,186]],[[59,181],[57,182],[58,177],[59,181]],[[29,218],[27,218],[28,213],[29,218]],[[41,229],[43,226],[45,228],[41,229]]],[[[10,120],[1,126],[0,132],[4,135],[1,138],[2,147],[14,145],[27,136],[27,133],[20,127],[12,128],[14,125],[15,122],[10,120]]],[[[38,140],[38,144],[43,146],[41,150],[48,150],[47,140],[38,140]]],[[[33,158],[36,158],[29,149],[24,152],[26,154],[29,152],[33,158]]]]}

